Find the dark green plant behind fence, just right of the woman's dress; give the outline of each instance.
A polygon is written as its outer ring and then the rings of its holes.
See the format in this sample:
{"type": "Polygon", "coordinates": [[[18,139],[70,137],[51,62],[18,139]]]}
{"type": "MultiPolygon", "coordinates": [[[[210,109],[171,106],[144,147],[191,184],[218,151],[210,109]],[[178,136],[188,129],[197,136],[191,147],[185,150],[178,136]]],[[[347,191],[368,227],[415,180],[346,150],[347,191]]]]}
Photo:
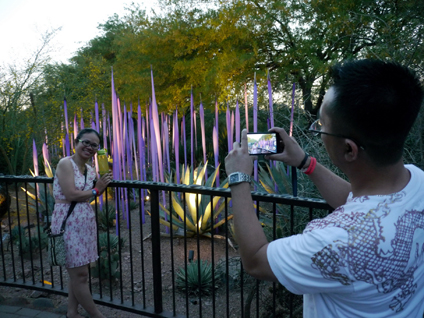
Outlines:
{"type": "Polygon", "coordinates": [[[99,259],[91,270],[93,277],[100,279],[117,279],[119,272],[119,249],[124,245],[124,240],[115,234],[99,234],[99,259]]]}

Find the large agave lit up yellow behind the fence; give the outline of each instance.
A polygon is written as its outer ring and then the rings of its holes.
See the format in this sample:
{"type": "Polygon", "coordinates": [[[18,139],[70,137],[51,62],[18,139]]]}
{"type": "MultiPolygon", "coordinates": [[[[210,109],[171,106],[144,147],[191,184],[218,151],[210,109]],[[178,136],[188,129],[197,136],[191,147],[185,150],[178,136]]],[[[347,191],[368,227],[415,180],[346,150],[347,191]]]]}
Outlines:
{"type": "MultiPolygon", "coordinates": [[[[181,183],[185,185],[204,185],[212,187],[215,183],[216,175],[219,171],[219,166],[214,173],[204,181],[206,164],[201,165],[193,170],[187,167],[181,176],[181,183]]],[[[172,180],[172,175],[169,180],[172,180]]],[[[169,182],[169,180],[167,180],[169,182]]],[[[228,182],[224,181],[222,188],[228,188],[228,182]]],[[[212,200],[209,195],[200,195],[196,193],[186,193],[184,200],[180,198],[178,193],[172,193],[172,213],[169,209],[160,204],[160,222],[168,227],[172,226],[174,230],[186,229],[185,235],[192,237],[195,235],[203,235],[211,237],[211,231],[221,226],[228,220],[232,219],[232,215],[223,218],[216,222],[218,216],[225,207],[225,202],[220,202],[221,197],[214,197],[212,200]],[[187,205],[186,213],[184,213],[184,203],[187,205]],[[184,226],[184,223],[186,226],[184,226]]]]}

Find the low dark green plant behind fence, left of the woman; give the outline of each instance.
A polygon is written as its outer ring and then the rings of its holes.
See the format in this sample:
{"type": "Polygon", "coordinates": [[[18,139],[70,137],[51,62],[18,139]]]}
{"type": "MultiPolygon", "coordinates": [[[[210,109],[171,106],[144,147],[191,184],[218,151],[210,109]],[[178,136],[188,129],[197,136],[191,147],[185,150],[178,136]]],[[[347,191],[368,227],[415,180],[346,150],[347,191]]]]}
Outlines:
{"type": "Polygon", "coordinates": [[[35,230],[15,226],[10,233],[11,241],[17,247],[19,255],[28,256],[31,253],[47,248],[47,234],[41,227],[35,230]]]}

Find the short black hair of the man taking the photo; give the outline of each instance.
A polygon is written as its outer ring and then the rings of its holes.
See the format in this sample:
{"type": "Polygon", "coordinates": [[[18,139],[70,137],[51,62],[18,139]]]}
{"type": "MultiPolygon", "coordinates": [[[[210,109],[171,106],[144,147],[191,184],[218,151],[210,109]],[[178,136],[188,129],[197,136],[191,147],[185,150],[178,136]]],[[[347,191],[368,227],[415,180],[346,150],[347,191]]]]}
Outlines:
{"type": "Polygon", "coordinates": [[[332,133],[358,140],[377,165],[396,163],[423,102],[418,77],[398,63],[371,59],[338,64],[331,75],[332,133]]]}

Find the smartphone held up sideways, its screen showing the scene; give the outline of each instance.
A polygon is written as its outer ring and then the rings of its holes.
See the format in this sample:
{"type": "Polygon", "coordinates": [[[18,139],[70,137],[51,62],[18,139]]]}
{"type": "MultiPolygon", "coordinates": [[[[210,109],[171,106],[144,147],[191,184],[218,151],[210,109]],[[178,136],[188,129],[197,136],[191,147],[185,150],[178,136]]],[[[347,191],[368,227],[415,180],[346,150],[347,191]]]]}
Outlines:
{"type": "Polygon", "coordinates": [[[283,152],[280,135],[269,132],[247,133],[247,149],[254,156],[283,152]]]}

